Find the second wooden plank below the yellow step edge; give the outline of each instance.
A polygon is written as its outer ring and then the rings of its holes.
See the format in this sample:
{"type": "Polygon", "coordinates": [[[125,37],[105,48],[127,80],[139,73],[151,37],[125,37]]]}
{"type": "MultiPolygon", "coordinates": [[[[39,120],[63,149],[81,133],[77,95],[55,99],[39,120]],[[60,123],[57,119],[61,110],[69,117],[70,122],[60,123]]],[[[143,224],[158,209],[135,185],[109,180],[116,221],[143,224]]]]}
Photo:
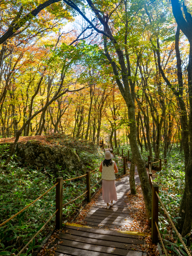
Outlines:
{"type": "MultiPolygon", "coordinates": [[[[127,243],[128,244],[145,244],[145,240],[140,240],[140,239],[136,238],[137,236],[134,236],[134,238],[132,238],[131,235],[127,235],[126,237],[119,237],[119,236],[111,236],[111,235],[108,235],[108,234],[89,233],[89,232],[84,232],[84,231],[80,231],[80,230],[73,230],[73,229],[67,229],[67,230],[68,230],[68,233],[65,233],[65,234],[60,233],[59,237],[64,238],[65,235],[73,235],[73,236],[82,237],[82,239],[84,239],[84,241],[85,241],[85,238],[92,238],[92,239],[97,238],[99,240],[125,243],[125,244],[127,244],[127,243]]],[[[87,230],[89,230],[89,229],[87,228],[87,230]]]]}

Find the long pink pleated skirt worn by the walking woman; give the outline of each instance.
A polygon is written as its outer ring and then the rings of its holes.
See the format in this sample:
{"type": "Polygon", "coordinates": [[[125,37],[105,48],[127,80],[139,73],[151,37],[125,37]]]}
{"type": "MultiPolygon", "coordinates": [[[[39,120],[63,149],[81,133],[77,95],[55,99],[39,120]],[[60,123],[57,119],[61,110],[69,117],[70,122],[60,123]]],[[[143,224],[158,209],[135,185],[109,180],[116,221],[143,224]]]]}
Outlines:
{"type": "Polygon", "coordinates": [[[110,203],[112,200],[118,200],[115,180],[102,180],[102,194],[105,203],[110,203]]]}

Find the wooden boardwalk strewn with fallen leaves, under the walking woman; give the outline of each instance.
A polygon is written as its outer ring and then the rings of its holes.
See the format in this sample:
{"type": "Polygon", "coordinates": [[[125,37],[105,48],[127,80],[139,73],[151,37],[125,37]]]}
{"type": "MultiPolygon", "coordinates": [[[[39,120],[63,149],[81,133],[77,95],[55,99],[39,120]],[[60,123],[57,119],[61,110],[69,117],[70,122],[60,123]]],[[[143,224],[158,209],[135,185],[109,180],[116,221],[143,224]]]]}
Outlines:
{"type": "MultiPolygon", "coordinates": [[[[140,183],[136,172],[136,184],[140,183]]],[[[56,256],[143,256],[141,236],[123,231],[132,222],[130,209],[126,203],[126,193],[130,190],[129,177],[116,181],[118,202],[110,209],[102,201],[102,194],[90,209],[84,221],[86,226],[68,224],[58,233],[55,243],[56,256]],[[120,230],[119,230],[120,229],[120,230]],[[118,231],[119,230],[119,231],[118,231]]],[[[51,248],[53,244],[50,244],[51,248]]]]}

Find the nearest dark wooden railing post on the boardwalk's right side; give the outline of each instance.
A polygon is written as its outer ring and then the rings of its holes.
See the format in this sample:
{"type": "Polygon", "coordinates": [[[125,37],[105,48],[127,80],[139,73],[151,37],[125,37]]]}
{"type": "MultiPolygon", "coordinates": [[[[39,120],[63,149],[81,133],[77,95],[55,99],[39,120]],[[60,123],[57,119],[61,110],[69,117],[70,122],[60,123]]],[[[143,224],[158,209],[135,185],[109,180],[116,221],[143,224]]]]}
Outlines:
{"type": "Polygon", "coordinates": [[[156,195],[159,194],[159,187],[156,184],[152,184],[152,220],[151,220],[151,239],[152,243],[158,242],[158,231],[155,222],[158,225],[158,211],[159,211],[159,199],[156,195]]]}

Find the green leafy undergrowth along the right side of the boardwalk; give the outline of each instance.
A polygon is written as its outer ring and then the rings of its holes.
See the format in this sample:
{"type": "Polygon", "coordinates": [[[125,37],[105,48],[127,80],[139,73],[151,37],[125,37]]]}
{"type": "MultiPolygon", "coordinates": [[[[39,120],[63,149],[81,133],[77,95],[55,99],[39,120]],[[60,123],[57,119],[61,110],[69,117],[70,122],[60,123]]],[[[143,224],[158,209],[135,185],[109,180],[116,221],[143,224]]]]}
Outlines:
{"type": "MultiPolygon", "coordinates": [[[[122,145],[119,148],[119,154],[122,153],[122,148],[124,155],[127,156],[127,151],[130,151],[130,159],[132,158],[130,145],[122,145]]],[[[117,149],[114,149],[117,152],[117,149]]],[[[141,152],[142,158],[144,159],[146,166],[148,161],[148,151],[145,151],[143,147],[143,152],[141,152]]],[[[154,156],[154,152],[153,152],[154,156]]],[[[184,172],[184,153],[180,153],[180,149],[173,145],[172,150],[167,155],[167,164],[163,161],[163,149],[160,151],[160,158],[162,158],[162,170],[156,172],[156,178],[154,182],[159,186],[160,198],[166,207],[170,218],[177,225],[178,212],[181,203],[181,199],[185,188],[185,172],[184,172]]],[[[158,166],[158,163],[156,164],[158,166]]],[[[172,228],[170,221],[168,220],[164,210],[159,202],[159,230],[162,235],[164,245],[169,253],[169,255],[184,255],[187,256],[186,251],[183,248],[182,243],[178,239],[176,232],[172,228]]],[[[185,238],[183,238],[185,244],[187,244],[187,238],[189,238],[191,233],[189,233],[185,238]]],[[[190,240],[188,249],[192,251],[192,242],[190,240]]],[[[162,250],[163,251],[163,250],[162,250]]]]}

